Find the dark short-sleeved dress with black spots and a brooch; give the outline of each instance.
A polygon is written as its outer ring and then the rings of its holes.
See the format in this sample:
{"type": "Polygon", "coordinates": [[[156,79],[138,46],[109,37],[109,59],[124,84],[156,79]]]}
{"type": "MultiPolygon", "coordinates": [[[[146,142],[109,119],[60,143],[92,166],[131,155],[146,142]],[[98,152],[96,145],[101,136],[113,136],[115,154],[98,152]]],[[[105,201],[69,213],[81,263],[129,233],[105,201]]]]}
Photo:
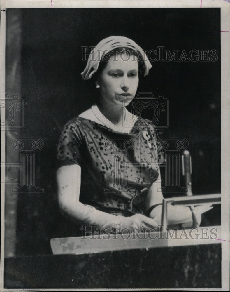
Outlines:
{"type": "Polygon", "coordinates": [[[129,134],[76,117],[63,128],[57,159],[81,166],[80,202],[130,216],[143,213],[146,192],[141,190],[157,180],[164,162],[157,139],[154,126],[141,117],[129,134]]]}

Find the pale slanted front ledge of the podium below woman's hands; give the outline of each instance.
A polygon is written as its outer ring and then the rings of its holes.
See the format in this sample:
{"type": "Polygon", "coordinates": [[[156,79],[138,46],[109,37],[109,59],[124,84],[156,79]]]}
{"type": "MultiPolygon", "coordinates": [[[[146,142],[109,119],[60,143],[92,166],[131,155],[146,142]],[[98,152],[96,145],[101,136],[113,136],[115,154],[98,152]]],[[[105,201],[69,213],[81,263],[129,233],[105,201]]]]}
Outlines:
{"type": "Polygon", "coordinates": [[[82,237],[52,238],[53,254],[85,254],[119,251],[128,249],[149,249],[157,247],[189,246],[200,244],[218,244],[221,239],[221,227],[210,226],[192,229],[167,228],[157,232],[152,228],[145,233],[101,234],[82,237]],[[219,240],[218,240],[219,239],[219,240]]]}

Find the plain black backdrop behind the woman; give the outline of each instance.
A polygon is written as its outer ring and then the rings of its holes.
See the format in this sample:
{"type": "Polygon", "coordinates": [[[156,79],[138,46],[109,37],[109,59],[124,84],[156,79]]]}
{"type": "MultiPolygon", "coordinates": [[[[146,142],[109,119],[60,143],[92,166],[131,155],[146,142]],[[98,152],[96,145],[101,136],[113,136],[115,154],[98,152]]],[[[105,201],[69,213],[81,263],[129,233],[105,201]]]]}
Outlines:
{"type": "MultiPolygon", "coordinates": [[[[148,51],[157,46],[171,52],[218,51],[215,62],[152,62],[138,91],[169,100],[169,127],[161,136],[189,141],[193,193],[220,193],[220,8],[14,9],[18,12],[24,100],[20,137],[44,141],[35,153],[35,182],[44,192],[18,194],[16,255],[51,253],[50,238],[76,235],[57,205],[56,144],[60,128],[94,102],[91,82],[80,76],[86,65],[81,46],[96,46],[108,36],[127,36],[148,51]]],[[[12,19],[6,19],[10,25],[12,19]]],[[[145,115],[151,118],[151,112],[145,115]]],[[[219,223],[219,211],[209,211],[204,222],[219,223]]]]}

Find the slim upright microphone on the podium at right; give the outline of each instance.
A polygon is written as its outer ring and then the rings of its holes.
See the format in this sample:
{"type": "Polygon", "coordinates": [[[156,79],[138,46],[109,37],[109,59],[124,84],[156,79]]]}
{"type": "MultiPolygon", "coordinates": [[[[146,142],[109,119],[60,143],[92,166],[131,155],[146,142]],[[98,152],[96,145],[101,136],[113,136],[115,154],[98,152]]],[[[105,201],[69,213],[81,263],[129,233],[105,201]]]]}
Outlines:
{"type": "Polygon", "coordinates": [[[186,196],[192,196],[192,160],[188,150],[182,153],[182,175],[185,177],[186,196]]]}

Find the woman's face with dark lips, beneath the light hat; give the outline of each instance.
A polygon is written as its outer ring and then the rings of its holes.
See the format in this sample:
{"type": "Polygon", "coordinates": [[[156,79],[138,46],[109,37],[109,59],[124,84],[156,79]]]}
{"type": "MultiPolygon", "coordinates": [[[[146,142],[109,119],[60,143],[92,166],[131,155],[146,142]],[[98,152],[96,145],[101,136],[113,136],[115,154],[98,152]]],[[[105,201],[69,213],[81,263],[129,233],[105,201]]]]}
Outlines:
{"type": "Polygon", "coordinates": [[[101,102],[122,106],[123,99],[134,98],[138,81],[136,57],[127,53],[112,56],[99,77],[101,102]]]}

